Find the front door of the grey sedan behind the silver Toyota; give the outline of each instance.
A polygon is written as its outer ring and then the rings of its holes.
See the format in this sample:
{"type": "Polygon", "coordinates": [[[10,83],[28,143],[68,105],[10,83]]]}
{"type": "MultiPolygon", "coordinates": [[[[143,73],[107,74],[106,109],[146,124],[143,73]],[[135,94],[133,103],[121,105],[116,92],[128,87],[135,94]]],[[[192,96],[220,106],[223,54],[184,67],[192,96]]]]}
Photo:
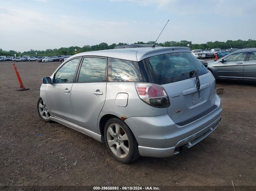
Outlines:
{"type": "Polygon", "coordinates": [[[243,79],[244,63],[248,52],[231,54],[215,65],[216,78],[243,79]]]}

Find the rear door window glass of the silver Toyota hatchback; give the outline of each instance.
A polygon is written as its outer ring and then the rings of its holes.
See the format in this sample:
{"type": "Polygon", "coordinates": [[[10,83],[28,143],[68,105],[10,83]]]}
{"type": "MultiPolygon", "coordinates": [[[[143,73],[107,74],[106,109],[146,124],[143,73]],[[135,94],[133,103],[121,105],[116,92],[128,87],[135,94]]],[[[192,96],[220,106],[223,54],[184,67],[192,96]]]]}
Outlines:
{"type": "Polygon", "coordinates": [[[84,58],[78,82],[106,81],[107,59],[84,58]]]}

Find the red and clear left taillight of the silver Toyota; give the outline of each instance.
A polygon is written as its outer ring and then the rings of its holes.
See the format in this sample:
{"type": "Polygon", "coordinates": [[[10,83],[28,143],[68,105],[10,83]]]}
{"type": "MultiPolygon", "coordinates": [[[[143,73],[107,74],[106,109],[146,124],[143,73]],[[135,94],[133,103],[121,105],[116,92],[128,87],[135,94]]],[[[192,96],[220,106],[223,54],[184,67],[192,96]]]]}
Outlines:
{"type": "Polygon", "coordinates": [[[170,100],[165,89],[158,84],[135,83],[136,90],[142,101],[153,107],[169,107],[170,100]]]}

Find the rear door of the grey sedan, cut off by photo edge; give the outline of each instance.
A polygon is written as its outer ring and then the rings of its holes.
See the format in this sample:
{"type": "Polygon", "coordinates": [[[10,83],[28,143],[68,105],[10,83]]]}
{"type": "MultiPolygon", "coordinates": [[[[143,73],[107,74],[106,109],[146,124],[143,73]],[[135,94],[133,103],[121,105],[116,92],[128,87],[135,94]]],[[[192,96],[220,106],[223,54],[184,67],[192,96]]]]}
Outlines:
{"type": "Polygon", "coordinates": [[[256,81],[256,51],[251,51],[244,64],[244,80],[256,81]]]}

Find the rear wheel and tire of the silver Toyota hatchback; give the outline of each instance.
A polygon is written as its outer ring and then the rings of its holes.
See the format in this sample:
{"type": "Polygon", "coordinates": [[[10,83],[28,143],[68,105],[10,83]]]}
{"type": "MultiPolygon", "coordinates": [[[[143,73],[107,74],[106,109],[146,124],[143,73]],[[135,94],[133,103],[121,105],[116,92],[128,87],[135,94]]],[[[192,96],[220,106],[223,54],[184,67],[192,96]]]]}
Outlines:
{"type": "Polygon", "coordinates": [[[139,158],[138,142],[131,129],[121,119],[113,117],[107,121],[104,129],[104,138],[108,152],[117,161],[127,164],[139,158]],[[119,133],[116,133],[116,127],[119,127],[119,133]],[[123,140],[122,137],[124,137],[123,140]],[[112,146],[110,146],[111,144],[112,146]]]}

